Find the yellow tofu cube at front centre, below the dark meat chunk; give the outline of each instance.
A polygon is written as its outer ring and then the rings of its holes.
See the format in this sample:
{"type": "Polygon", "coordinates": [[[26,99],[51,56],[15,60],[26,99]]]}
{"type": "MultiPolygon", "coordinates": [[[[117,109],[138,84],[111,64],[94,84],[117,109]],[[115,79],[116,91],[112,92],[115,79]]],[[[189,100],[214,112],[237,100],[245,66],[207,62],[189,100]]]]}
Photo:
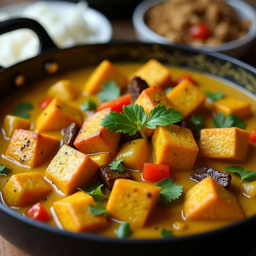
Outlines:
{"type": "Polygon", "coordinates": [[[117,179],[108,199],[107,212],[116,220],[144,227],[156,206],[161,188],[134,180],[117,179]]]}

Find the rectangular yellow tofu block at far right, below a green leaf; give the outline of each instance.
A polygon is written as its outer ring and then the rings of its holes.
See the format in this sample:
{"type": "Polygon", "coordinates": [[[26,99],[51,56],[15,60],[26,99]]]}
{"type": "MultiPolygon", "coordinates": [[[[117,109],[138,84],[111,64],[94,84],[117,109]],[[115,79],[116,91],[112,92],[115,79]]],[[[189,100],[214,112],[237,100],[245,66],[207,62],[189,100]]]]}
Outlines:
{"type": "Polygon", "coordinates": [[[237,127],[203,129],[199,156],[244,161],[249,149],[249,136],[249,132],[237,127]]]}

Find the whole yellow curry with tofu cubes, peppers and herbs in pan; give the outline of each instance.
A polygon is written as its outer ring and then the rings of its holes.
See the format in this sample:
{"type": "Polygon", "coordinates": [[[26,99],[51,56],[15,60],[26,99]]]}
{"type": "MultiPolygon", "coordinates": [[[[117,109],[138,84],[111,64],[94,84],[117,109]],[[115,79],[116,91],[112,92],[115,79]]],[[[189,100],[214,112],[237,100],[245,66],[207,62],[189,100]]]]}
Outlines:
{"type": "Polygon", "coordinates": [[[256,101],[224,80],[104,60],[1,109],[1,201],[24,218],[160,238],[256,213],[256,101]]]}

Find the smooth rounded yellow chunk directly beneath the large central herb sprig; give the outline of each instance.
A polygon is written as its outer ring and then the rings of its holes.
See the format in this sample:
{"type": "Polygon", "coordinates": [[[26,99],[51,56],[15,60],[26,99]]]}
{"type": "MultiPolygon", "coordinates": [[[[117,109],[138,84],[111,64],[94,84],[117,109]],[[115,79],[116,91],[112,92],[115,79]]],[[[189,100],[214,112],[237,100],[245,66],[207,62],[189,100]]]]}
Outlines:
{"type": "Polygon", "coordinates": [[[144,139],[132,140],[121,145],[116,159],[124,159],[125,167],[131,170],[142,170],[145,162],[148,161],[149,148],[144,139]]]}

